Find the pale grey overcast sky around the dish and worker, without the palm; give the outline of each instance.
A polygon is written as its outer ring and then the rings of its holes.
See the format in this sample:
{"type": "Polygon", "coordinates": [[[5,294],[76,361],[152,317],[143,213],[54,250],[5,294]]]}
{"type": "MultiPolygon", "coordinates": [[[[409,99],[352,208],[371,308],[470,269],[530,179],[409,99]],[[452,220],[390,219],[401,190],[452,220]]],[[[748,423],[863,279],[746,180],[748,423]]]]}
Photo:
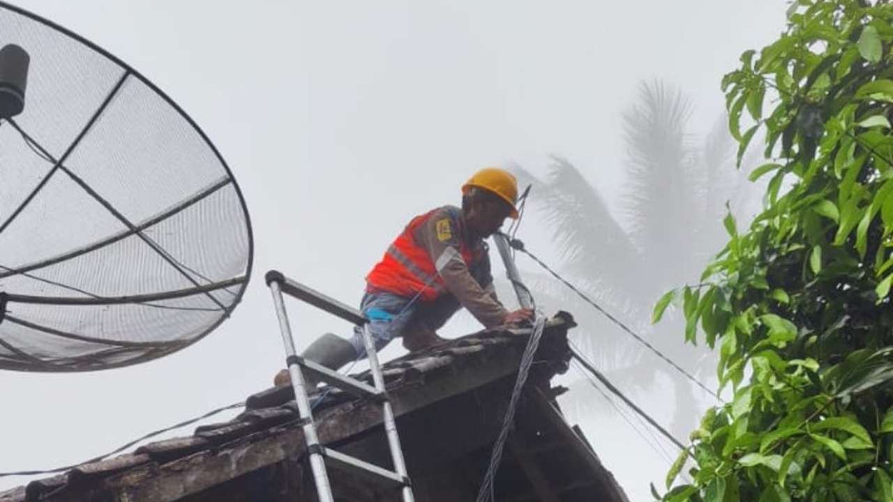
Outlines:
{"type": "MultiPolygon", "coordinates": [[[[263,272],[356,304],[396,232],[416,213],[457,204],[479,167],[543,172],[547,155],[563,155],[616,209],[621,113],[638,83],[677,85],[706,132],[722,112],[722,74],[779,34],[787,4],[15,3],[118,55],[200,124],[245,194],[256,255],[230,321],[178,354],[106,372],[0,372],[0,472],[79,462],[265,389],[283,354],[263,272]]],[[[522,233],[555,255],[542,229],[522,233]]],[[[318,312],[291,313],[299,348],[325,330],[347,333],[318,312]]],[[[476,329],[466,320],[445,334],[476,329]]],[[[647,499],[665,460],[621,420],[578,420],[630,499],[647,499]]],[[[0,489],[25,481],[0,478],[0,489]]]]}

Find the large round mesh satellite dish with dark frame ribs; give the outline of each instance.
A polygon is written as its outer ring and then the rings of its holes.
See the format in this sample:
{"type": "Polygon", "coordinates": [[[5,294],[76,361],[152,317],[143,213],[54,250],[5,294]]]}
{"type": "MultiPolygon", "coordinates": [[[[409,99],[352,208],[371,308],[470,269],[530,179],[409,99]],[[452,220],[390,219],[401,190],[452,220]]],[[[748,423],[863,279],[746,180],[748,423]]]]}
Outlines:
{"type": "Polygon", "coordinates": [[[165,356],[238,305],[245,200],[204,132],[121,60],[0,2],[0,369],[165,356]]]}

